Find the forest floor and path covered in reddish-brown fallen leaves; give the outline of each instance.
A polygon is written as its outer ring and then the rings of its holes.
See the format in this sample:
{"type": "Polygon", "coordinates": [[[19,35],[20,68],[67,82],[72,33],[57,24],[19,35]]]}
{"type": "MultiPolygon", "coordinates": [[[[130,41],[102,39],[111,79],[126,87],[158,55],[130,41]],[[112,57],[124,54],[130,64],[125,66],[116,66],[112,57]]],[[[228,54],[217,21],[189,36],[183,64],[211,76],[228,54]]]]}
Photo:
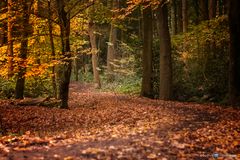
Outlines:
{"type": "Polygon", "coordinates": [[[0,101],[0,160],[240,159],[240,110],[72,83],[69,109],[0,101]]]}

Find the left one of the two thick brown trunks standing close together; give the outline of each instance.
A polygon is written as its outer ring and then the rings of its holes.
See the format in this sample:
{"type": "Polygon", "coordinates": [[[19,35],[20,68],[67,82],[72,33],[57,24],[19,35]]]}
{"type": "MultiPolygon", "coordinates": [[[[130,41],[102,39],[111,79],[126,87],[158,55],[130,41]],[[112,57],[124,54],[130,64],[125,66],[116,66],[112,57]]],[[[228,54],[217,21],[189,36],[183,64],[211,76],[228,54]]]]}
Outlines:
{"type": "Polygon", "coordinates": [[[143,54],[142,54],[142,88],[141,96],[153,97],[152,84],[152,42],[153,41],[153,25],[152,25],[152,9],[147,7],[143,10],[143,54]]]}

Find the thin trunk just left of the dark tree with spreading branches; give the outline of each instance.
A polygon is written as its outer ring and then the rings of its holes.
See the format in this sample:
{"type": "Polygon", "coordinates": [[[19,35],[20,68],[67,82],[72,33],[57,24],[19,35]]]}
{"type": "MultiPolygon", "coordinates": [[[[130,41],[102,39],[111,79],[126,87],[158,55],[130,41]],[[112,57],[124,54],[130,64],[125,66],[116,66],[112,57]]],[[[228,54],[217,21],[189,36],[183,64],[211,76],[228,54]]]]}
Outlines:
{"type": "MultiPolygon", "coordinates": [[[[48,30],[49,30],[49,38],[50,38],[50,46],[51,46],[51,59],[55,60],[55,46],[53,41],[53,27],[51,20],[51,1],[48,1],[48,30]]],[[[55,75],[55,66],[52,67],[52,87],[53,87],[53,95],[57,97],[57,85],[56,85],[56,75],[55,75]]]]}

